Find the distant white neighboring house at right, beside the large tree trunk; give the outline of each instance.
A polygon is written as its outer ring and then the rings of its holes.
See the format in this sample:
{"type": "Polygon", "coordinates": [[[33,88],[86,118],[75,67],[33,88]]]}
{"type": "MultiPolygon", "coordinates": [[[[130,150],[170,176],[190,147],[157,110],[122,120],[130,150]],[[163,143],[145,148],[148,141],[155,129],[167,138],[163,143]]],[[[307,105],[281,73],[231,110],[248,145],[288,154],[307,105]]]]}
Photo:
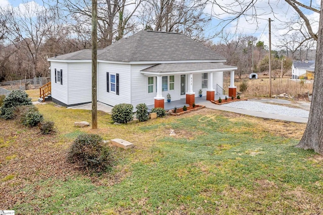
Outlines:
{"type": "Polygon", "coordinates": [[[292,64],[292,78],[314,78],[315,61],[294,62],[292,64]]]}

